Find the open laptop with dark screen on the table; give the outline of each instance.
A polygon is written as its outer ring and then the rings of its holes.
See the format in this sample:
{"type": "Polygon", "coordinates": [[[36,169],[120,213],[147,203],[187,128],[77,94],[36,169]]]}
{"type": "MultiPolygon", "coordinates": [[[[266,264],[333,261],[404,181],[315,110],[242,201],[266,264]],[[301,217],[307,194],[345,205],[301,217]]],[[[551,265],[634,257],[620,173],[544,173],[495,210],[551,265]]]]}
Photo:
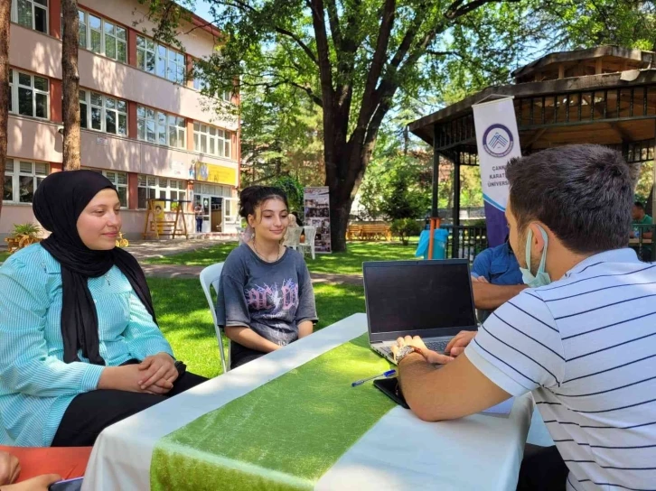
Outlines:
{"type": "Polygon", "coordinates": [[[362,273],[370,346],[392,363],[399,337],[444,353],[458,332],[477,329],[466,259],[365,262],[362,273]]]}

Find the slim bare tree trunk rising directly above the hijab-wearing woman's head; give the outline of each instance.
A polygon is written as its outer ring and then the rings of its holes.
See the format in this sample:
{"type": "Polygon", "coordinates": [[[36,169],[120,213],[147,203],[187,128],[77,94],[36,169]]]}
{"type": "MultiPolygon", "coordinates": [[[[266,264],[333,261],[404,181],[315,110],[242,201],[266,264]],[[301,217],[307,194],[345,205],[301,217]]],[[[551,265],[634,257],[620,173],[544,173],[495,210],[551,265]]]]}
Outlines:
{"type": "Polygon", "coordinates": [[[78,72],[80,18],[77,0],[61,0],[61,12],[63,14],[61,48],[63,169],[75,171],[80,169],[80,73],[78,72]]]}

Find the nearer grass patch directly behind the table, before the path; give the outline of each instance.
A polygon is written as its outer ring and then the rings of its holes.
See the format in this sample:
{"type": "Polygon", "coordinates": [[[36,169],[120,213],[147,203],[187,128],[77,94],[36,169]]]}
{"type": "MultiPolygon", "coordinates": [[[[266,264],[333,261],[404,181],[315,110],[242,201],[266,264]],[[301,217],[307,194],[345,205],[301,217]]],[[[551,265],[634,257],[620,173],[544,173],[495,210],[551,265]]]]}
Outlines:
{"type": "MultiPolygon", "coordinates": [[[[211,314],[198,280],[149,278],[157,320],[173,347],[175,357],[183,360],[198,375],[219,375],[220,357],[211,314]]],[[[314,296],[319,324],[316,329],[364,312],[361,286],[315,284],[314,296]]]]}

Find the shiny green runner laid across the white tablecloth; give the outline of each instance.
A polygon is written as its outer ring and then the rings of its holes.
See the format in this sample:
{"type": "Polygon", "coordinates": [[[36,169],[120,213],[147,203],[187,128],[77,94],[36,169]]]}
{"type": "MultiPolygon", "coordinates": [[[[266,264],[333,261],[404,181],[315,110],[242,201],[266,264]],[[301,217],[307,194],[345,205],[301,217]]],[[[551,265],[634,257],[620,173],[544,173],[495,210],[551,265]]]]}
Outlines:
{"type": "Polygon", "coordinates": [[[372,384],[389,369],[352,339],[173,431],[155,445],[151,487],[312,489],[394,403],[372,384]]]}

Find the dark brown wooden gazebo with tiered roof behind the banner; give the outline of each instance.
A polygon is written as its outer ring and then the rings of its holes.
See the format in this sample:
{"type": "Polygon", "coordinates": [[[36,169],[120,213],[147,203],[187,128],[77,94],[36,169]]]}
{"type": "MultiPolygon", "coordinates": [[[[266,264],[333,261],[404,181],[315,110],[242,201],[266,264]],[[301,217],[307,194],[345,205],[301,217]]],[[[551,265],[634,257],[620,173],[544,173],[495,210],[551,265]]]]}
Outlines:
{"type": "MultiPolygon", "coordinates": [[[[433,217],[440,156],[454,164],[454,256],[463,254],[467,240],[460,227],[460,167],[478,165],[472,105],[483,99],[514,97],[522,154],[589,143],[613,146],[629,162],[654,159],[656,53],[616,46],[551,53],[512,76],[514,84],[485,88],[409,125],[433,147],[433,217]]],[[[648,212],[655,199],[652,189],[648,212]]]]}

